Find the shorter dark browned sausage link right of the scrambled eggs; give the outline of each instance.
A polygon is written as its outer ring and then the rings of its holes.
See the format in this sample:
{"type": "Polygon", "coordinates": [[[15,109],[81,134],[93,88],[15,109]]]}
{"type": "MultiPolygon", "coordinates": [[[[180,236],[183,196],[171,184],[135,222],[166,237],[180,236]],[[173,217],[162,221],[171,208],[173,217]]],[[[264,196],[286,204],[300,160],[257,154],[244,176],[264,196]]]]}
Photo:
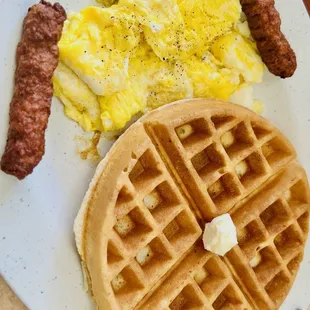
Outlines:
{"type": "Polygon", "coordinates": [[[281,32],[281,18],[274,0],[241,0],[253,38],[269,71],[281,78],[292,76],[296,55],[281,32]]]}

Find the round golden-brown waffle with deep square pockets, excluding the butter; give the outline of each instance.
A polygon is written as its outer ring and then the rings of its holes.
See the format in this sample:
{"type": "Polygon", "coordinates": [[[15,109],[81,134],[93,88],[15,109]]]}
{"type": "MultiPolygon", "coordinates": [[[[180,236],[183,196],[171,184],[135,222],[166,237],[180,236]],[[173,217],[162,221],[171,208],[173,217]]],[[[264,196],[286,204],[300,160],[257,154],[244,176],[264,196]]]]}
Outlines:
{"type": "Polygon", "coordinates": [[[289,141],[229,103],[176,102],[132,125],[99,164],[75,221],[99,309],[278,309],[303,258],[309,187],[289,141]],[[238,242],[205,251],[230,213],[238,242]]]}

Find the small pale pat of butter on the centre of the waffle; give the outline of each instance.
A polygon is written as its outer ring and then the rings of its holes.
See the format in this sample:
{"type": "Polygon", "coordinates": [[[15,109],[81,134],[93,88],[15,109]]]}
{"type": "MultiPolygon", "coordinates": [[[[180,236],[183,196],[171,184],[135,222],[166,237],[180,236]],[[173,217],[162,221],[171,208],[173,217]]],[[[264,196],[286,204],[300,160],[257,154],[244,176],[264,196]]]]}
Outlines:
{"type": "Polygon", "coordinates": [[[237,245],[237,230],[230,215],[223,214],[207,223],[202,240],[206,250],[221,256],[237,245]]]}

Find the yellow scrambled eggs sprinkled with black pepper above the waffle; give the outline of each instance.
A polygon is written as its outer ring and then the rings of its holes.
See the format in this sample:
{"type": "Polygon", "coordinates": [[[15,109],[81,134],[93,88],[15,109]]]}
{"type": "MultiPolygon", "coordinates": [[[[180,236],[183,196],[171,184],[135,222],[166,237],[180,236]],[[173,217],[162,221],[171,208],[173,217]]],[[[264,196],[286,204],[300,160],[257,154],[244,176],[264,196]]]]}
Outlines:
{"type": "Polygon", "coordinates": [[[68,16],[59,51],[55,95],[86,131],[121,129],[133,115],[183,98],[253,105],[252,83],[264,71],[239,0],[88,7],[68,16]]]}

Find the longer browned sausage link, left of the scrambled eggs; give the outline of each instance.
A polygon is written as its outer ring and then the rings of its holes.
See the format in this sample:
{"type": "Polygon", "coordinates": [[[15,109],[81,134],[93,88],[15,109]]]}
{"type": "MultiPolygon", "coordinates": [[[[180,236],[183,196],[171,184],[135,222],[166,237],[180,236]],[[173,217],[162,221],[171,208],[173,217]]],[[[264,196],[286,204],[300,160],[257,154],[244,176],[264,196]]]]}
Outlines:
{"type": "Polygon", "coordinates": [[[44,155],[52,76],[59,60],[57,43],[65,19],[60,4],[46,1],[32,6],[24,19],[16,51],[8,138],[1,159],[1,169],[19,179],[32,173],[44,155]]]}

